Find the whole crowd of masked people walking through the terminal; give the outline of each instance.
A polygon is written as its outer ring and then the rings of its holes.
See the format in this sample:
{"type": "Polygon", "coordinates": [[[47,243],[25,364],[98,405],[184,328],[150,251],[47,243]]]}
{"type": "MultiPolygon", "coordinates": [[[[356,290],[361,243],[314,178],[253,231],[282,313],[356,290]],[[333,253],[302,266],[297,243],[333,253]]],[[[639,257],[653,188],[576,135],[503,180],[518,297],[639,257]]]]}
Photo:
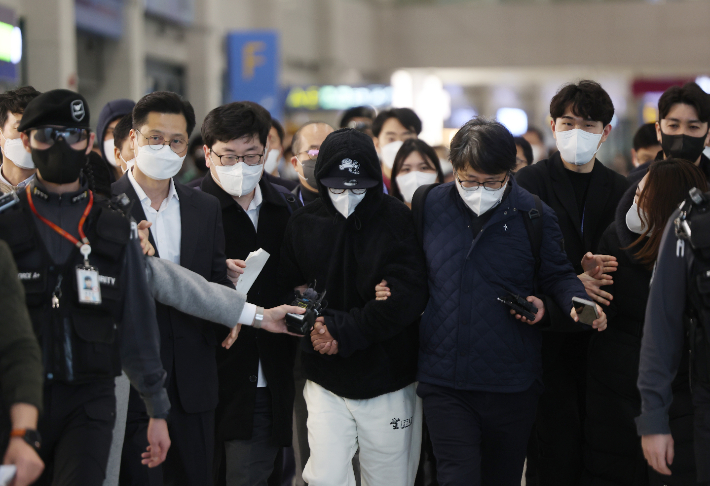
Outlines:
{"type": "Polygon", "coordinates": [[[476,117],[442,155],[408,108],[287,145],[248,101],[193,136],[171,92],[95,132],[80,94],[3,93],[0,477],[710,484],[710,95],[658,110],[625,177],[589,80],[549,154],[476,117]]]}

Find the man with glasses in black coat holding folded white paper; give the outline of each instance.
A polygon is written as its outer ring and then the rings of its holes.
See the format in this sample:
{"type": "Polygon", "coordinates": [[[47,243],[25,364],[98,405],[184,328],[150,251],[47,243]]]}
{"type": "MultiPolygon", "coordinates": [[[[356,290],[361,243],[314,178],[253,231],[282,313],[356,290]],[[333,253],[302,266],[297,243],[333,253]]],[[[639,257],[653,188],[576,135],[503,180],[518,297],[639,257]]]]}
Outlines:
{"type": "MultiPolygon", "coordinates": [[[[264,177],[271,129],[269,112],[249,101],[208,113],[202,138],[210,174],[200,186],[220,202],[228,258],[243,265],[260,248],[269,254],[249,289],[251,302],[266,308],[292,300],[279,293],[276,278],[286,223],[301,206],[286,188],[264,177]]],[[[218,340],[227,332],[218,331],[218,340]]],[[[227,486],[265,486],[279,449],[291,445],[295,352],[293,337],[248,326],[232,349],[218,349],[214,470],[219,482],[226,477],[227,486]]]]}

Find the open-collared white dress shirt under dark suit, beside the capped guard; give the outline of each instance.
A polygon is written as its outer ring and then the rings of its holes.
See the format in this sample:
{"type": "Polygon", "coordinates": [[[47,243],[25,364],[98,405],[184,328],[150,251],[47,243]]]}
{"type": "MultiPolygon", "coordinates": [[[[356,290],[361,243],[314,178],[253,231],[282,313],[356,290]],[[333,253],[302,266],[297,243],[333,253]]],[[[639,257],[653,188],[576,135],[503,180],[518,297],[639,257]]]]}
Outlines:
{"type": "MultiPolygon", "coordinates": [[[[180,242],[182,241],[182,219],[180,218],[180,198],[175,192],[175,182],[170,179],[168,197],[160,203],[156,211],[150,206],[150,199],[143,188],[133,177],[133,171],[128,171],[128,180],[131,181],[138,199],[140,199],[146,219],[153,223],[150,232],[155,240],[156,250],[160,258],[165,258],[173,263],[180,264],[180,242]]],[[[139,221],[140,222],[140,221],[139,221]]]]}

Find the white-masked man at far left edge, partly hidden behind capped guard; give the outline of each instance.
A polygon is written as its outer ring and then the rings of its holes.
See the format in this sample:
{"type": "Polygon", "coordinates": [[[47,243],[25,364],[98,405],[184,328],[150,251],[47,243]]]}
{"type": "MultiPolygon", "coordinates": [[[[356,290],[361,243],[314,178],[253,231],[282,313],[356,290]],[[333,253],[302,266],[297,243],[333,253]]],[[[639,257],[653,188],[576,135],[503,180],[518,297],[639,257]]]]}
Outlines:
{"type": "Polygon", "coordinates": [[[17,127],[27,104],[39,96],[32,86],[23,86],[0,94],[0,194],[24,188],[35,176],[32,156],[25,151],[17,127]]]}

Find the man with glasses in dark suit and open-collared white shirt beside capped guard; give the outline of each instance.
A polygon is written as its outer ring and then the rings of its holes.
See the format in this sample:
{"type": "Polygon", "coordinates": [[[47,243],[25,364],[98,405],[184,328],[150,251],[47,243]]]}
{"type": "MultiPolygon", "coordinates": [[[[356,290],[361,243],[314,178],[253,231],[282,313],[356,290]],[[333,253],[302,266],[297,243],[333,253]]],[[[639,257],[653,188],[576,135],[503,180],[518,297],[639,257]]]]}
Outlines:
{"type": "MultiPolygon", "coordinates": [[[[187,154],[195,113],[175,93],[144,96],[133,109],[132,170],[112,185],[133,202],[132,216],[147,220],[156,256],[177,263],[211,282],[232,287],[224,256],[219,201],[174,180],[187,154]]],[[[217,407],[218,345],[214,326],[156,303],[160,356],[167,372],[172,449],[166,467],[134,467],[145,449],[145,409],[131,390],[122,476],[131,484],[204,485],[212,476],[214,411],[217,407]]]]}

